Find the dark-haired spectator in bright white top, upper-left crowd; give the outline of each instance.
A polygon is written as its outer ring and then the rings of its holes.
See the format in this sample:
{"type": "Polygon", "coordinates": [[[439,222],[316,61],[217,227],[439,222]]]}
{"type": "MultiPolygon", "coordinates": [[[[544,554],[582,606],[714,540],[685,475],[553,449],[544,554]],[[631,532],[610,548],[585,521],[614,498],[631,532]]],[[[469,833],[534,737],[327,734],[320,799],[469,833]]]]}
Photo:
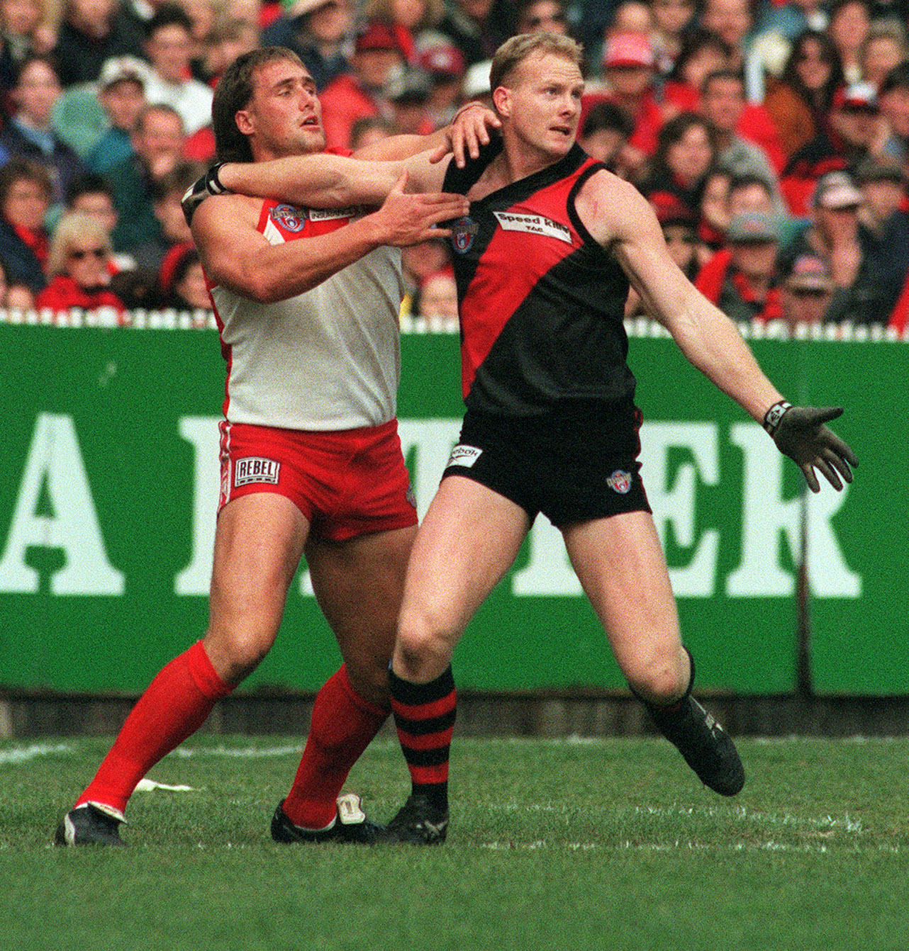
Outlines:
{"type": "Polygon", "coordinates": [[[177,111],[184,133],[192,135],[211,124],[211,87],[191,79],[192,21],[180,7],[165,4],[148,21],[146,41],[151,68],[146,76],[146,100],[177,111]]]}

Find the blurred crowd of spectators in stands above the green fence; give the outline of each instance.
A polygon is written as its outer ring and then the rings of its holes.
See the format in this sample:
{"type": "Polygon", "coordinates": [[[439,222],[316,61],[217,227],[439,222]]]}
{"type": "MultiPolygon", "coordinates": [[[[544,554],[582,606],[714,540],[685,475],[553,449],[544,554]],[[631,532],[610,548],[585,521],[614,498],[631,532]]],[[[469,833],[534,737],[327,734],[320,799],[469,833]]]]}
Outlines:
{"type": "MultiPolygon", "coordinates": [[[[209,305],[179,200],[248,49],[298,53],[357,148],[444,126],[535,30],[583,42],[581,146],[727,314],[905,327],[909,0],[0,0],[0,306],[209,305]]],[[[444,243],[404,267],[403,313],[455,316],[444,243]]]]}

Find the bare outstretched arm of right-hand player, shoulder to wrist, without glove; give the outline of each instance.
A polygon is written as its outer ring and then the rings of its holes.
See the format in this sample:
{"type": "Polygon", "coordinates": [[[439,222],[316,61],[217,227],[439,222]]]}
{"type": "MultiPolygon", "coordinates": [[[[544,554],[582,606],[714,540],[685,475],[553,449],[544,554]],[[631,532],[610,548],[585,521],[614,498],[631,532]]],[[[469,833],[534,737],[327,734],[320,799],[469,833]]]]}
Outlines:
{"type": "Polygon", "coordinates": [[[738,329],[673,262],[657,217],[632,185],[600,172],[578,196],[593,237],[615,255],[647,312],[669,331],[685,357],[749,416],[763,422],[781,394],[767,379],[738,329]]]}

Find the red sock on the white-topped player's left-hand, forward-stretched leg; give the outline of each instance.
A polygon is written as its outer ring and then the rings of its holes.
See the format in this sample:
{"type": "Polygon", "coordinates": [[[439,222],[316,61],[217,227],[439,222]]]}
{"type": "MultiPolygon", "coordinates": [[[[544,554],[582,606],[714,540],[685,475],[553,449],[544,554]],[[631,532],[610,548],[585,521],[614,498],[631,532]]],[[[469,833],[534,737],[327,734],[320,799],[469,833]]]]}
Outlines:
{"type": "Polygon", "coordinates": [[[132,708],[113,747],[76,805],[104,803],[123,812],[136,784],[206,721],[233,689],[211,666],[202,641],[174,657],[132,708]]]}

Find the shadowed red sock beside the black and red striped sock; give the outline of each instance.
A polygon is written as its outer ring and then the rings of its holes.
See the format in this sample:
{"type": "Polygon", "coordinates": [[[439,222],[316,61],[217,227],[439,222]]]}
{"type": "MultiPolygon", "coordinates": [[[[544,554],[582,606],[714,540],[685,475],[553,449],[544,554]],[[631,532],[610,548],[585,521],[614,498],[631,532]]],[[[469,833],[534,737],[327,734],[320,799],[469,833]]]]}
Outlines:
{"type": "Polygon", "coordinates": [[[350,684],[342,664],[316,694],[312,724],[284,811],[294,825],[325,828],[337,814],[335,800],[350,767],[388,718],[350,684]]]}

